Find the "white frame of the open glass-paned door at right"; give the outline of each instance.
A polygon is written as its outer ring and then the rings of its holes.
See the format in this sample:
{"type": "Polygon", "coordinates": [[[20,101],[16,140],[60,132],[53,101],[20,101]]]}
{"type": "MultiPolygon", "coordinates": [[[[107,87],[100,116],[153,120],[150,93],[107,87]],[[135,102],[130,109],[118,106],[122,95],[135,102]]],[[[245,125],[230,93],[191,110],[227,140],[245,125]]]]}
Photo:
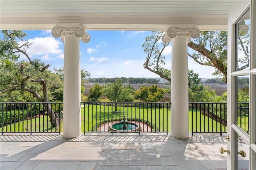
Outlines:
{"type": "Polygon", "coordinates": [[[227,169],[237,169],[237,139],[236,133],[246,141],[250,147],[250,153],[246,153],[250,160],[250,169],[256,169],[256,1],[236,1],[228,15],[228,99],[227,99],[227,126],[230,141],[227,140],[227,169]],[[250,9],[250,68],[248,70],[235,71],[235,24],[250,9]],[[235,77],[249,76],[249,134],[247,135],[235,123],[235,77]]]}

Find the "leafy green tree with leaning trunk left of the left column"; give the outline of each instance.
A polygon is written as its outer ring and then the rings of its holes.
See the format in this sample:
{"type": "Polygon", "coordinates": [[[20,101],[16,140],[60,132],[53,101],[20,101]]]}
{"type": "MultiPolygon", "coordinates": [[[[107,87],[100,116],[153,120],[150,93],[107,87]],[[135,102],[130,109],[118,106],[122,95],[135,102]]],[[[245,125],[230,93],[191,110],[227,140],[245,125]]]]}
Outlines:
{"type": "MultiPolygon", "coordinates": [[[[39,102],[49,102],[50,92],[48,82],[51,80],[51,72],[47,70],[49,64],[42,63],[38,59],[32,60],[26,53],[26,49],[31,45],[24,41],[27,36],[23,31],[2,31],[4,37],[1,39],[1,89],[0,93],[12,93],[15,91],[28,92],[39,102]],[[20,45],[18,41],[22,41],[20,45]],[[18,62],[20,54],[25,55],[26,61],[18,62]],[[40,86],[39,86],[40,85],[40,86]]],[[[56,115],[50,104],[44,104],[52,126],[58,126],[56,115]]]]}

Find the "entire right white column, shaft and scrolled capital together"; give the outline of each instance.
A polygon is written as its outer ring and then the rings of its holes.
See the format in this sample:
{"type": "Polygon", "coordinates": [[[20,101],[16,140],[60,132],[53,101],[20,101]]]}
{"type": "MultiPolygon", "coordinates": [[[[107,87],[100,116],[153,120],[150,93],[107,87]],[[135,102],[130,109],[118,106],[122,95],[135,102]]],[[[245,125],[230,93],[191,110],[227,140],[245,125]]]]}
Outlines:
{"type": "Polygon", "coordinates": [[[194,24],[172,24],[162,37],[172,39],[171,66],[171,135],[188,138],[188,39],[197,38],[200,30],[194,24]]]}

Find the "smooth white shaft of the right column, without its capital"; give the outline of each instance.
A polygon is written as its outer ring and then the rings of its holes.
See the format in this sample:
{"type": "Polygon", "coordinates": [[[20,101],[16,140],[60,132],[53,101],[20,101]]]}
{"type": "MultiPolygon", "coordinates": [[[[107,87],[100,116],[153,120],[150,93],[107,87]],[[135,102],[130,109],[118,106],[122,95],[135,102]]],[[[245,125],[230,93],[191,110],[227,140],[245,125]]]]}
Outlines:
{"type": "Polygon", "coordinates": [[[188,42],[187,36],[172,39],[171,135],[188,138],[188,42]]]}

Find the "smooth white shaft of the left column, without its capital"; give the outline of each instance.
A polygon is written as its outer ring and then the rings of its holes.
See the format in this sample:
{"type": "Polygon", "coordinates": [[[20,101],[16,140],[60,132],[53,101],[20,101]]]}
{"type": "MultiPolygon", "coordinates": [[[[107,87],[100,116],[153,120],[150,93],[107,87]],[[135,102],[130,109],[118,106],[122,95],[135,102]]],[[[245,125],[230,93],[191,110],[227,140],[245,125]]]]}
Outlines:
{"type": "Polygon", "coordinates": [[[64,37],[64,106],[63,137],[81,135],[80,38],[64,37]]]}

